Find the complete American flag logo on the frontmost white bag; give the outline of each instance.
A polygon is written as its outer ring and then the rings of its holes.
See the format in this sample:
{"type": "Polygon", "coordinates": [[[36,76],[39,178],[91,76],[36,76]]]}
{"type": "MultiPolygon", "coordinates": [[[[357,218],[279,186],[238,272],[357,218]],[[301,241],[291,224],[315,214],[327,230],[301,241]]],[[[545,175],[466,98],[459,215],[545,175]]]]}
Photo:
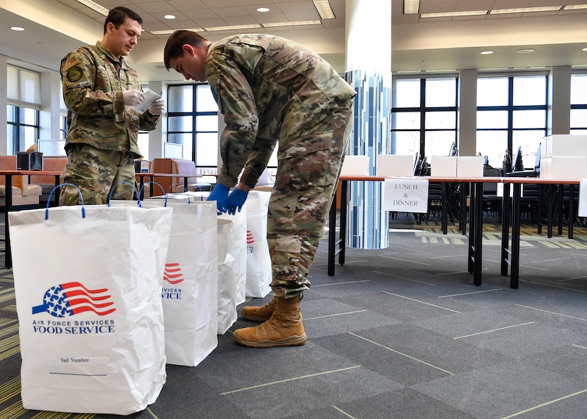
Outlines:
{"type": "Polygon", "coordinates": [[[88,290],[80,282],[67,282],[49,288],[43,295],[43,304],[33,307],[33,314],[48,312],[53,317],[69,317],[83,312],[106,316],[116,309],[107,288],[88,290]],[[110,307],[110,308],[108,308],[110,307]]]}

